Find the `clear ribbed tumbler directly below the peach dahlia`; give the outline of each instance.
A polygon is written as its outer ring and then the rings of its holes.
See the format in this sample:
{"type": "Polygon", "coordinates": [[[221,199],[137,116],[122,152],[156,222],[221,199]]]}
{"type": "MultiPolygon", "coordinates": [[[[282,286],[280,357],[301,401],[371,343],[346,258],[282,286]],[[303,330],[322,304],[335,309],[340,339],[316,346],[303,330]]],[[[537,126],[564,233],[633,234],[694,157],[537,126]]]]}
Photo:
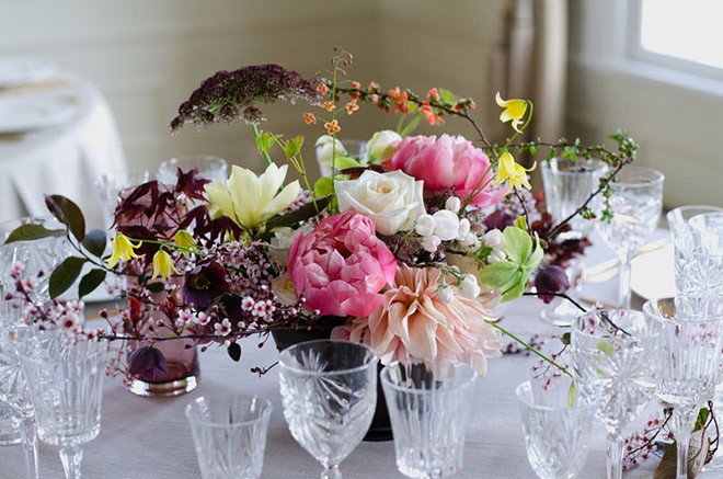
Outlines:
{"type": "Polygon", "coordinates": [[[462,468],[477,373],[472,366],[397,362],[381,370],[397,468],[437,478],[462,468]]]}

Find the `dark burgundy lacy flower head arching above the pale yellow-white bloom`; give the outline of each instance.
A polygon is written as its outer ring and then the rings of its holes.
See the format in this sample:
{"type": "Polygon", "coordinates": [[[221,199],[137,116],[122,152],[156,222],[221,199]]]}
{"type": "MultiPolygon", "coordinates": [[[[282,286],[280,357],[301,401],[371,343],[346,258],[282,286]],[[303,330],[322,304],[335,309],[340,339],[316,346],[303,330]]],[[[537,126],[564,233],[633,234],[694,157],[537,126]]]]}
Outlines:
{"type": "Polygon", "coordinates": [[[243,118],[257,124],[264,119],[259,103],[301,99],[317,104],[320,101],[317,82],[273,64],[219,71],[204,80],[181,104],[179,115],[171,121],[171,132],[177,132],[186,123],[205,127],[243,118]]]}

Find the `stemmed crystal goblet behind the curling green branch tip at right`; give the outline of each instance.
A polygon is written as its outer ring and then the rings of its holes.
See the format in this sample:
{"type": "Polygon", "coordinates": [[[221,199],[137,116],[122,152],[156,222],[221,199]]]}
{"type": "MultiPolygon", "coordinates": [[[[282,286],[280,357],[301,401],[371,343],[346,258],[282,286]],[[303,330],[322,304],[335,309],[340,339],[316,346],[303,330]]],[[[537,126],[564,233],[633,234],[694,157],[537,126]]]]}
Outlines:
{"type": "Polygon", "coordinates": [[[620,259],[619,304],[630,309],[630,261],[643,246],[661,219],[663,208],[663,181],[657,170],[641,167],[623,167],[611,183],[613,217],[597,221],[602,240],[620,259]]]}

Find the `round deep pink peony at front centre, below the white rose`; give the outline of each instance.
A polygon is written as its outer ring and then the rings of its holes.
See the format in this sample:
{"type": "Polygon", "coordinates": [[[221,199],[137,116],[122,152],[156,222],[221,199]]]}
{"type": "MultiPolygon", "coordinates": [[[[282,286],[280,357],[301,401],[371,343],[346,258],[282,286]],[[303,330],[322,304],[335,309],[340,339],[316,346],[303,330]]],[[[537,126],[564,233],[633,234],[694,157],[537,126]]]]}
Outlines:
{"type": "Polygon", "coordinates": [[[397,260],[375,236],[374,223],[354,209],[324,219],[294,238],[288,271],[305,307],[322,315],[369,316],[379,292],[394,281],[397,260]]]}

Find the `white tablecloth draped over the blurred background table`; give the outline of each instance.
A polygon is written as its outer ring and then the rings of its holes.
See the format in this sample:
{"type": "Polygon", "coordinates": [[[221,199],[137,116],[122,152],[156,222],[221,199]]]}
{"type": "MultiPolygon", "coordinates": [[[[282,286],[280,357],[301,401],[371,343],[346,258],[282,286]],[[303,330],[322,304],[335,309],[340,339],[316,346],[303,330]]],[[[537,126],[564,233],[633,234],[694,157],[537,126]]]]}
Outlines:
{"type": "Polygon", "coordinates": [[[61,98],[77,104],[66,123],[22,136],[0,136],[0,221],[47,216],[44,194],[62,194],[81,206],[87,221],[105,226],[93,181],[123,170],[126,160],[115,121],[101,92],[69,75],[36,88],[0,90],[0,95],[61,98]]]}

